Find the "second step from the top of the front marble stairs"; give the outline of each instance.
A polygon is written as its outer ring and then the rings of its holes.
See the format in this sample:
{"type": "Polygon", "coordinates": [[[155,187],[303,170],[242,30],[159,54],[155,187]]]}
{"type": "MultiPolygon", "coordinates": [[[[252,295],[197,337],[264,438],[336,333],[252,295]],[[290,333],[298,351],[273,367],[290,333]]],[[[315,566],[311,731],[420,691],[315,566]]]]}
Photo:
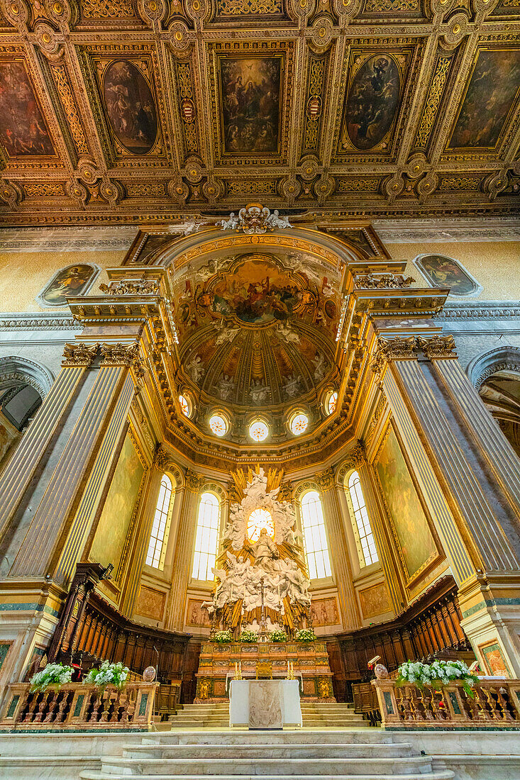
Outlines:
{"type": "MultiPolygon", "coordinates": [[[[162,758],[175,761],[177,758],[261,758],[265,755],[265,745],[134,745],[123,746],[124,758],[162,758]]],[[[320,745],[301,743],[300,745],[270,745],[269,757],[275,759],[289,758],[370,758],[380,754],[383,757],[411,756],[411,743],[351,743],[348,745],[320,745]]]]}

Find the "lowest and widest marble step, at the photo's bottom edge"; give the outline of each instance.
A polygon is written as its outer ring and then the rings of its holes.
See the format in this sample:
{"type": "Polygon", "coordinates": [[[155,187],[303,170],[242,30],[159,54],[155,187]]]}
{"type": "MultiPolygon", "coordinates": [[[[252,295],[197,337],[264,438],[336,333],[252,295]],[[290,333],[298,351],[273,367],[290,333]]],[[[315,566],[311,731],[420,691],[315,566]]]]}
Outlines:
{"type": "MultiPolygon", "coordinates": [[[[80,773],[80,780],[128,780],[132,775],[113,774],[105,771],[86,770],[80,773]]],[[[218,780],[272,780],[272,775],[251,775],[248,772],[245,775],[213,775],[218,780]]],[[[208,775],[138,775],[140,780],[208,780],[208,775]]],[[[319,775],[300,775],[301,780],[329,780],[329,773],[320,773],[319,775]]],[[[454,780],[454,772],[449,769],[440,769],[428,772],[426,775],[422,772],[413,774],[397,775],[391,772],[390,775],[367,774],[365,775],[334,775],[334,780],[454,780]]]]}

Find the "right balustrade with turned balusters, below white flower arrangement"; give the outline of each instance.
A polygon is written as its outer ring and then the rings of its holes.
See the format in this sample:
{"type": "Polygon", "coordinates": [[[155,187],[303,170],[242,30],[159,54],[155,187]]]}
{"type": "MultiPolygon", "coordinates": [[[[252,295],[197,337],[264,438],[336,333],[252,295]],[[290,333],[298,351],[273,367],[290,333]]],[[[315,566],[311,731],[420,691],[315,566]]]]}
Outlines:
{"type": "Polygon", "coordinates": [[[481,680],[473,697],[460,683],[434,690],[372,680],[386,729],[520,729],[520,680],[481,680]]]}

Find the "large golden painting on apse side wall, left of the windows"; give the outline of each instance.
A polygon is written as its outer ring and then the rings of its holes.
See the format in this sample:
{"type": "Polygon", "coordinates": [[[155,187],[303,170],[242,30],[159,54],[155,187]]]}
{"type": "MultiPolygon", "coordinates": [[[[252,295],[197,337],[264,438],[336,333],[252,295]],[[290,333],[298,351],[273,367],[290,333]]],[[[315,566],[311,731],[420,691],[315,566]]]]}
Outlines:
{"type": "Polygon", "coordinates": [[[102,566],[112,563],[116,573],[143,474],[130,434],[126,434],[89,555],[91,561],[98,561],[102,566]]]}

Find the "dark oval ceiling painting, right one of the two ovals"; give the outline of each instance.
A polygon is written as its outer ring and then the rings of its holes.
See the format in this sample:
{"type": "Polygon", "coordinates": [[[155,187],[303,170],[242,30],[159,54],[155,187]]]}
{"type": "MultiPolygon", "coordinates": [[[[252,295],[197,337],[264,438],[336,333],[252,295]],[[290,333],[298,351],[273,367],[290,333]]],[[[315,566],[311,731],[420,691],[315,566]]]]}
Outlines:
{"type": "Polygon", "coordinates": [[[357,149],[373,149],[394,122],[401,92],[401,75],[390,55],[369,57],[351,83],[347,101],[347,132],[357,149]]]}

